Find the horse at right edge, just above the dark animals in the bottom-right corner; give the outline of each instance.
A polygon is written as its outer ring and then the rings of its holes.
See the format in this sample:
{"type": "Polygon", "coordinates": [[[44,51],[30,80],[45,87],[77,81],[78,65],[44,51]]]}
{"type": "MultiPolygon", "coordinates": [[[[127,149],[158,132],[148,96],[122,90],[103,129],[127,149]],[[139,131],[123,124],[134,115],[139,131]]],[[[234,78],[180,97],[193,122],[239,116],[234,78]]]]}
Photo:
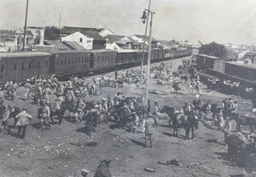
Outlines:
{"type": "Polygon", "coordinates": [[[256,128],[256,119],[253,117],[247,117],[237,113],[231,113],[231,120],[236,121],[236,130],[237,132],[241,132],[241,125],[250,126],[251,134],[254,133],[254,128],[256,128]]]}

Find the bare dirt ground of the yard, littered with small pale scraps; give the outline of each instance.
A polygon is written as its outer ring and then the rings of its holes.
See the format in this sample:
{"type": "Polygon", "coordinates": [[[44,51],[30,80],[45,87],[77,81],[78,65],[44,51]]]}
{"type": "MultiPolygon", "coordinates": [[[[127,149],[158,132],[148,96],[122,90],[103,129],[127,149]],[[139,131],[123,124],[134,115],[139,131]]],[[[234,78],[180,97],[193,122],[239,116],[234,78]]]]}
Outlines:
{"type": "MultiPolygon", "coordinates": [[[[177,71],[181,60],[167,63],[172,63],[172,70],[177,71]]],[[[105,75],[113,76],[113,73],[105,75]]],[[[171,86],[157,85],[154,79],[150,82],[150,89],[163,93],[149,94],[151,107],[154,100],[158,100],[160,107],[183,106],[184,100],[194,100],[195,94],[200,94],[201,100],[211,103],[220,103],[230,97],[215,91],[204,92],[204,85],[199,93],[195,92],[189,83],[182,83],[180,94],[173,94],[171,86]]],[[[145,94],[144,89],[138,89],[134,84],[125,84],[123,88],[103,88],[101,96],[88,97],[88,100],[107,98],[108,94],[113,97],[118,90],[127,96],[145,94]]],[[[144,134],[119,130],[112,122],[103,123],[91,136],[85,134],[84,122],[70,123],[65,119],[61,126],[55,119],[56,124],[51,130],[38,131],[38,106],[32,105],[32,100],[24,101],[23,95],[24,88],[19,88],[15,101],[6,100],[5,103],[20,108],[26,106],[33,119],[27,127],[25,140],[15,137],[17,129],[11,135],[0,136],[0,177],[74,177],[80,176],[84,168],[90,171],[87,176],[91,177],[100,160],[111,160],[109,167],[115,177],[250,176],[245,170],[247,163],[228,160],[227,147],[223,144],[224,134],[217,130],[211,120],[201,121],[195,140],[186,141],[183,129],[179,129],[178,137],[172,136],[173,130],[168,126],[169,117],[162,114],[160,126],[153,128],[149,124],[153,133],[153,147],[145,148],[144,134]],[[90,142],[96,142],[96,146],[89,146],[90,142]],[[160,164],[172,159],[177,159],[180,165],[160,164]],[[154,168],[155,172],[144,170],[147,167],[154,168]]],[[[237,96],[234,99],[238,100],[241,113],[251,112],[253,107],[250,100],[237,96]]],[[[13,120],[10,122],[13,124],[13,120]]],[[[232,124],[232,130],[236,131],[236,123],[232,124]]],[[[241,129],[243,134],[248,134],[248,128],[241,129]]]]}

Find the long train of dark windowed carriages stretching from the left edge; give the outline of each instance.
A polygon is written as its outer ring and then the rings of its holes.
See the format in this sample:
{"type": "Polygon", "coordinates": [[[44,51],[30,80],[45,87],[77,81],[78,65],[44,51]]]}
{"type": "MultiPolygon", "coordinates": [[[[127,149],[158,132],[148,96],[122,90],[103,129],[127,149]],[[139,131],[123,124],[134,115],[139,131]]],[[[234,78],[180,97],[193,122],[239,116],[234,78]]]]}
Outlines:
{"type": "MultiPolygon", "coordinates": [[[[191,55],[191,50],[171,51],[153,49],[151,62],[172,60],[191,55]]],[[[148,52],[144,52],[144,64],[148,52]]],[[[143,50],[139,49],[99,49],[99,50],[51,50],[34,52],[0,53],[0,85],[12,79],[24,83],[34,73],[47,76],[65,77],[96,71],[119,70],[124,67],[141,65],[143,50]]]]}

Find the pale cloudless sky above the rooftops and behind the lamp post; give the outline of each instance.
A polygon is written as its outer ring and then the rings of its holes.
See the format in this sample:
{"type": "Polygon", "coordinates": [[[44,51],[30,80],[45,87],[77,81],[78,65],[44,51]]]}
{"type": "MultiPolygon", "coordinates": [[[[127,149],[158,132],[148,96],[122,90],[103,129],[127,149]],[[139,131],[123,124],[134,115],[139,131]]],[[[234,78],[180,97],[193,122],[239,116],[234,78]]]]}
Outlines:
{"type": "MultiPolygon", "coordinates": [[[[27,26],[105,27],[144,35],[149,0],[29,0],[27,26]],[[61,18],[60,18],[61,14],[61,18]],[[60,20],[61,19],[61,20],[60,20]]],[[[158,40],[256,45],[255,0],[151,0],[158,40]]],[[[0,29],[23,28],[26,0],[0,0],[0,29]]],[[[151,17],[150,17],[151,18],[151,17]]]]}

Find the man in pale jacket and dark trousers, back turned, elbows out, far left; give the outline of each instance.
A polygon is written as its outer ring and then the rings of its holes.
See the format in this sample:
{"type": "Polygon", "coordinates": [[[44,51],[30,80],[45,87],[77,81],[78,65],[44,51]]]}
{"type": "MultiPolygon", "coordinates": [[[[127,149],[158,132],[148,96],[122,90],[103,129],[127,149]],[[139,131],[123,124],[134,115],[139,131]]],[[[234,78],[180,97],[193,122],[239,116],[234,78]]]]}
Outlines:
{"type": "Polygon", "coordinates": [[[17,126],[17,138],[24,139],[26,135],[26,126],[29,124],[29,121],[32,119],[32,116],[26,113],[26,108],[24,107],[22,111],[15,117],[18,118],[17,126]]]}

